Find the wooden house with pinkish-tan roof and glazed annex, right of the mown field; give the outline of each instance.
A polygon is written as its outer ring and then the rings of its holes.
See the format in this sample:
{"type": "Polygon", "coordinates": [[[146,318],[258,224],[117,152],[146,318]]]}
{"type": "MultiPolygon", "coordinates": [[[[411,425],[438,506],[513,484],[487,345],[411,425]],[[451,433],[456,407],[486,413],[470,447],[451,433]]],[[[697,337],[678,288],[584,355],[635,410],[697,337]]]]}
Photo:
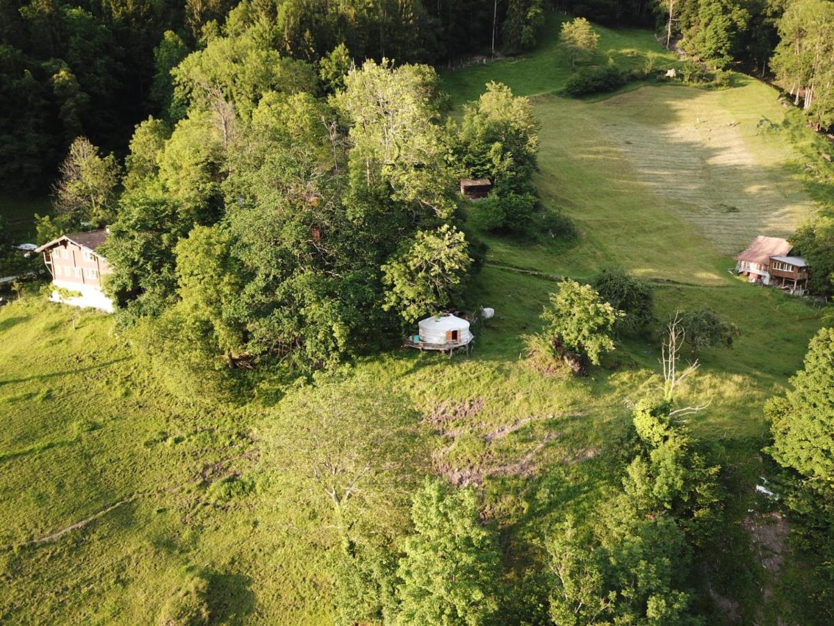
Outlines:
{"type": "Polygon", "coordinates": [[[808,285],[808,265],[801,256],[790,256],[791,244],[780,237],[759,235],[736,256],[736,273],[757,285],[770,285],[803,295],[808,285]]]}

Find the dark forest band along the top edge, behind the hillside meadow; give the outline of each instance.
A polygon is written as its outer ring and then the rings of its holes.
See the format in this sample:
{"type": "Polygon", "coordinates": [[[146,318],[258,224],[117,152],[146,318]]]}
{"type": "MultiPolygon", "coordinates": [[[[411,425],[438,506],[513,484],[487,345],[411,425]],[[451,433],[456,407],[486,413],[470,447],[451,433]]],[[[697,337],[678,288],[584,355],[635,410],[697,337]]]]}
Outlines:
{"type": "Polygon", "coordinates": [[[0,180],[6,189],[47,190],[78,136],[123,158],[133,127],[148,115],[169,124],[183,117],[188,103],[183,93],[172,100],[171,70],[214,39],[234,39],[238,47],[269,50],[313,69],[343,44],[359,64],[389,58],[445,66],[530,50],[550,8],[595,23],[656,28],[668,45],[701,62],[775,77],[803,101],[817,128],[831,124],[834,27],[827,0],[600,0],[552,7],[545,0],[239,6],[3,0],[0,180]]]}

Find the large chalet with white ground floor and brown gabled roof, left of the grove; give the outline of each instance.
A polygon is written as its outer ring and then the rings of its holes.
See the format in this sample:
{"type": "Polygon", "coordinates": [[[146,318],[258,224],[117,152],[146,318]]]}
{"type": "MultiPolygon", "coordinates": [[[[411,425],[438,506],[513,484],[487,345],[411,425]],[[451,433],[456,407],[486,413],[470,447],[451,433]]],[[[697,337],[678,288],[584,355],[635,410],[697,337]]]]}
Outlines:
{"type": "Polygon", "coordinates": [[[110,265],[96,252],[107,237],[107,229],[61,235],[35,250],[43,253],[43,262],[53,276],[55,290],[50,300],[113,312],[113,300],[102,290],[110,265]]]}

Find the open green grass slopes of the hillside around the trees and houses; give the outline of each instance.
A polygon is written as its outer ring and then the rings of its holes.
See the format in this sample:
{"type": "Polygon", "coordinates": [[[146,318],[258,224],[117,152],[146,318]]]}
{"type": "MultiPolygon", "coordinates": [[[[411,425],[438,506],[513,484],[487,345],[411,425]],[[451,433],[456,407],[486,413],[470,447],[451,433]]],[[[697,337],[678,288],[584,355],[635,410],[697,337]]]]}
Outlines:
{"type": "MultiPolygon", "coordinates": [[[[726,271],[746,240],[789,232],[811,209],[788,168],[786,137],[756,132],[763,117],[781,120],[776,93],[741,79],[722,92],[662,86],[595,103],[560,98],[553,92],[569,70],[555,49],[558,19],[548,28],[529,57],[444,80],[457,103],[487,80],[543,94],[534,99],[536,182],[580,240],[488,240],[469,300],[497,316],[474,329],[470,358],[392,350],[342,372],[402,396],[425,444],[415,448],[415,480],[434,472],[480,483],[508,578],[543,558],[551,523],[592,516],[600,487],[616,480],[632,403],[660,382],[656,332],[679,308],[709,305],[743,331],[732,350],[702,353],[681,401],[711,399],[692,430],[732,468],[739,519],[758,506],[761,407],[801,366],[820,316],[726,271]],[[553,276],[587,278],[609,265],[654,282],[656,328],[586,379],[531,370],[521,335],[539,327],[553,276]]],[[[601,47],[635,66],[645,54],[668,59],[643,31],[602,29],[601,47]]],[[[332,520],[316,494],[293,488],[292,458],[276,469],[269,437],[294,382],[264,378],[234,401],[172,396],[109,318],[35,294],[0,309],[0,344],[0,621],[153,623],[191,567],[208,575],[216,623],[330,623],[332,520]]],[[[756,576],[705,583],[751,619],[801,611],[783,607],[777,589],[761,613],[756,576]]]]}

